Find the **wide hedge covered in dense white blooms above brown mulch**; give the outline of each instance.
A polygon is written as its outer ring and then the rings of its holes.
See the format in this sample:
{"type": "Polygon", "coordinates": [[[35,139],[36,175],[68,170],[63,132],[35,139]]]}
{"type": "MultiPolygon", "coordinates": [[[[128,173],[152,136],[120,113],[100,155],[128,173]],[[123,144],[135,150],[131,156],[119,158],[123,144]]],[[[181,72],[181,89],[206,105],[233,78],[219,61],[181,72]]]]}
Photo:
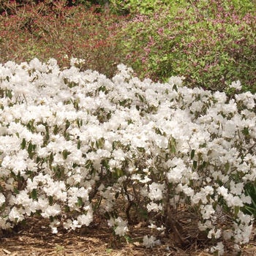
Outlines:
{"type": "Polygon", "coordinates": [[[1,229],[38,215],[53,233],[74,230],[100,211],[124,236],[128,222],[116,214],[124,198],[172,227],[173,209],[189,206],[218,255],[226,239],[236,249],[248,243],[254,219],[242,210],[251,203],[244,185],[256,176],[255,95],[188,89],[178,77],[141,81],[123,64],[108,79],[71,63],[62,71],[55,59],[0,65],[1,229]]]}

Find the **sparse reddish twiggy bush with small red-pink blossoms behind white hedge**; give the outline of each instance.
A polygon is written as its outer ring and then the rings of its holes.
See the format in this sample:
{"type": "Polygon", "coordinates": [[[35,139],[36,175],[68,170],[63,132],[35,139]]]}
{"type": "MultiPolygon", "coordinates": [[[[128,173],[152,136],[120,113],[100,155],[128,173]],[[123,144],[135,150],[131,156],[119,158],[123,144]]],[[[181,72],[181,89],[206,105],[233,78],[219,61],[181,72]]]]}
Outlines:
{"type": "Polygon", "coordinates": [[[55,58],[64,69],[71,57],[85,59],[80,69],[93,69],[113,77],[124,59],[116,37],[129,18],[103,12],[102,7],[67,1],[44,1],[17,7],[14,1],[0,14],[0,61],[55,58]]]}

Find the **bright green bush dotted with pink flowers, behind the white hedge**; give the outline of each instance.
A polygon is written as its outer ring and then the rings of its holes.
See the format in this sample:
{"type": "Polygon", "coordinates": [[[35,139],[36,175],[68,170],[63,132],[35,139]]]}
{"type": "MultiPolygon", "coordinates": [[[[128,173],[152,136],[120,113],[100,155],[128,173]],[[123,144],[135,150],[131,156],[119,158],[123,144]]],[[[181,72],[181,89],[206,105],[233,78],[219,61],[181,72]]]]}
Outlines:
{"type": "Polygon", "coordinates": [[[123,26],[125,63],[140,78],[184,76],[184,85],[214,91],[241,80],[255,92],[255,10],[255,2],[233,0],[159,5],[123,26]]]}

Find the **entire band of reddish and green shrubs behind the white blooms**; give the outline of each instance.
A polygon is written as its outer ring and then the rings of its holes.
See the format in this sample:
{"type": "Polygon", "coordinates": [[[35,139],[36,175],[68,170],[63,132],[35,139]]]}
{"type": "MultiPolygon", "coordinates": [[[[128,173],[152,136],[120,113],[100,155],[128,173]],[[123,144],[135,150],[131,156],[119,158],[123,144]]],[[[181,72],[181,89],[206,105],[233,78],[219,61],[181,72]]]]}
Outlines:
{"type": "Polygon", "coordinates": [[[55,58],[68,67],[76,57],[108,77],[122,62],[140,78],[179,75],[220,91],[241,80],[256,90],[256,1],[9,0],[0,8],[2,63],[55,58]]]}

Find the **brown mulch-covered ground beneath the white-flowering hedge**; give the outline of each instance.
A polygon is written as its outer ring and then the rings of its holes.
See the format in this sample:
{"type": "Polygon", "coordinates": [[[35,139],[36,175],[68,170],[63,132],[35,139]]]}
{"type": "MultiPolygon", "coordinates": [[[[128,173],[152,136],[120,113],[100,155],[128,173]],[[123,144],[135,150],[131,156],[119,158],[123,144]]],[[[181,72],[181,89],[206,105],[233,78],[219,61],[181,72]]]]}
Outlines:
{"type": "MultiPolygon", "coordinates": [[[[140,222],[129,225],[128,236],[132,241],[113,236],[113,230],[108,227],[105,219],[95,218],[94,224],[82,227],[79,230],[64,230],[59,228],[59,233],[51,233],[45,219],[30,218],[26,226],[20,226],[15,231],[0,234],[0,256],[23,255],[99,255],[99,256],[210,256],[206,252],[206,241],[199,243],[191,241],[187,248],[182,248],[174,235],[170,232],[167,236],[158,233],[157,239],[161,244],[146,249],[143,246],[143,236],[151,235],[147,224],[140,222]]],[[[154,233],[155,236],[155,233],[154,233]]],[[[249,242],[242,249],[241,255],[256,255],[256,242],[249,242]]],[[[231,248],[231,246],[230,246],[231,248]]],[[[232,249],[226,255],[237,255],[232,249]]]]}

